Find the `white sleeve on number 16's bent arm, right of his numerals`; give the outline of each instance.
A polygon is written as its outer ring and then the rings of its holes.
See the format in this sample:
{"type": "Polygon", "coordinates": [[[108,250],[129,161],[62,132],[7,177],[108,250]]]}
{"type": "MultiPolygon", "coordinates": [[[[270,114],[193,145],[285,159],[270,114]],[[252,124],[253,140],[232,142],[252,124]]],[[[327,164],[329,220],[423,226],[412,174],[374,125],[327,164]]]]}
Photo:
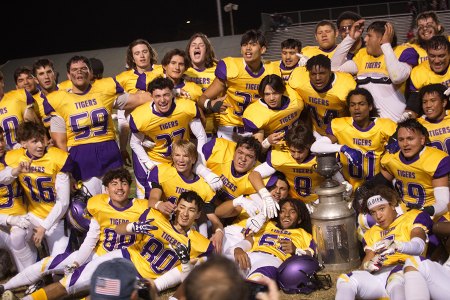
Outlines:
{"type": "Polygon", "coordinates": [[[49,230],[66,213],[70,203],[70,179],[66,173],[56,174],[56,202],[50,210],[47,218],[42,222],[42,227],[49,230]]]}

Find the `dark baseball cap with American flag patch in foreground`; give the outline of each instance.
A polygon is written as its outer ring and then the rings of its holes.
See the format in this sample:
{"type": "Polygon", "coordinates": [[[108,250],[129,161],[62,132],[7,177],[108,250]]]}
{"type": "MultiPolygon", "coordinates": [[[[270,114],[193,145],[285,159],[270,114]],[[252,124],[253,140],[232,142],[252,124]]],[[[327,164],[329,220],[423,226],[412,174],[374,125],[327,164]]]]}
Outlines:
{"type": "Polygon", "coordinates": [[[125,258],[114,258],[98,265],[91,278],[91,299],[130,299],[136,289],[138,273],[125,258]]]}

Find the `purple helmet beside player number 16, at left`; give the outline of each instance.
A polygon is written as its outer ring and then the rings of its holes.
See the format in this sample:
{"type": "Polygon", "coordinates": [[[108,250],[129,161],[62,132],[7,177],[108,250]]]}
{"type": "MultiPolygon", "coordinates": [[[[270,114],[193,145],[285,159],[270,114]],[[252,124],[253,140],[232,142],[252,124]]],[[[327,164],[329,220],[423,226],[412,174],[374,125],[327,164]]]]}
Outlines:
{"type": "Polygon", "coordinates": [[[73,194],[69,209],[67,210],[67,221],[80,233],[86,233],[89,230],[91,219],[86,214],[86,206],[87,200],[91,197],[92,195],[87,188],[81,186],[73,194]]]}

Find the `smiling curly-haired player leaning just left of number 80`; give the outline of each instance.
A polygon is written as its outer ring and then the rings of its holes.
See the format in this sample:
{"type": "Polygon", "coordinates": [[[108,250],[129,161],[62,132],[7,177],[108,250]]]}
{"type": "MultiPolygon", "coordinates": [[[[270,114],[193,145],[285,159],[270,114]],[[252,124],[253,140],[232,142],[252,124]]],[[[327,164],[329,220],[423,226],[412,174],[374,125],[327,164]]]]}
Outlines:
{"type": "Polygon", "coordinates": [[[2,284],[0,292],[34,284],[48,274],[72,273],[98,256],[134,244],[135,235],[118,234],[115,228],[123,222],[138,222],[148,201],[129,198],[131,175],[126,169],[106,172],[103,185],[106,194],[88,200],[84,217],[90,219],[89,231],[80,249],[43,258],[2,284]]]}

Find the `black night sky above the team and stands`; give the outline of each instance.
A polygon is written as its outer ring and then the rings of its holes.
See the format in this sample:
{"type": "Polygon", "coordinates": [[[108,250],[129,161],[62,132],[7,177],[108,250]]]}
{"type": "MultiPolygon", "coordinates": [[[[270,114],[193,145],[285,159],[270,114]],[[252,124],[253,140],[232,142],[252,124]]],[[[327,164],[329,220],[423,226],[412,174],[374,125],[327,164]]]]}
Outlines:
{"type": "MultiPolygon", "coordinates": [[[[0,65],[8,60],[112,47],[126,47],[136,38],[150,43],[188,39],[195,32],[219,36],[216,0],[61,1],[57,5],[13,1],[3,10],[0,65]],[[117,1],[114,1],[117,2],[117,1]],[[10,14],[10,16],[7,16],[10,14]],[[190,24],[186,21],[190,20],[190,24]]],[[[261,12],[275,13],[386,1],[221,0],[224,34],[259,28],[261,12]]]]}

